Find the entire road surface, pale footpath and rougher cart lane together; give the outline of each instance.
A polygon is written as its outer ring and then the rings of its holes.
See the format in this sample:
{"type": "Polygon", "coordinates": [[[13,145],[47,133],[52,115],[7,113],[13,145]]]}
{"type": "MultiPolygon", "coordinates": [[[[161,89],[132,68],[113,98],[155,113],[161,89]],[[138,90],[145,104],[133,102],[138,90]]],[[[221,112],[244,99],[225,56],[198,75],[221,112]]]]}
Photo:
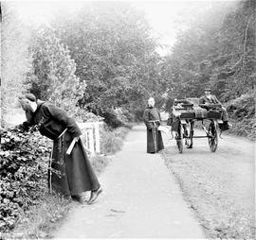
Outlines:
{"type": "MultiPolygon", "coordinates": [[[[195,134],[203,131],[195,129],[195,134]]],[[[206,238],[216,236],[221,226],[226,236],[232,237],[226,229],[235,228],[240,237],[252,235],[246,220],[255,211],[254,143],[224,135],[212,153],[207,139],[195,139],[192,149],[179,154],[175,141],[163,137],[163,154],[183,184],[161,154],[146,153],[146,129],[136,126],[101,175],[104,192],[98,202],[78,205],[54,237],[206,238]],[[185,202],[188,194],[191,201],[185,202]]]]}

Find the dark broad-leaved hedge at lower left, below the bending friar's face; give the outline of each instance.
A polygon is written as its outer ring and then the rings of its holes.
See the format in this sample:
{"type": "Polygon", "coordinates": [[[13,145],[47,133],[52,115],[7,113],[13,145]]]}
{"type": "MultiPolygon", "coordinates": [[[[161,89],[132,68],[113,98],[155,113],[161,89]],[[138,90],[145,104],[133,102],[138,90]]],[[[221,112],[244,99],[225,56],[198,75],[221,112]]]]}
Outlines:
{"type": "Polygon", "coordinates": [[[13,229],[20,215],[45,191],[48,156],[49,148],[37,133],[2,130],[0,231],[13,229]]]}

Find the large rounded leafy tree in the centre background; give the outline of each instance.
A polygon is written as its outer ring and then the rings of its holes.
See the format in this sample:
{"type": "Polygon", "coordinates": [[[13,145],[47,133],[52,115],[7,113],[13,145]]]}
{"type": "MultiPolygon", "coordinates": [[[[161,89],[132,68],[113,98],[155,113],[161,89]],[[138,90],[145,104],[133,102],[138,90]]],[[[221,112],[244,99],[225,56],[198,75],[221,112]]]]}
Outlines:
{"type": "Polygon", "coordinates": [[[64,16],[53,26],[76,61],[76,75],[86,81],[80,105],[87,110],[111,121],[112,108],[133,112],[159,91],[155,40],[142,14],[127,3],[86,5],[77,16],[64,16]]]}

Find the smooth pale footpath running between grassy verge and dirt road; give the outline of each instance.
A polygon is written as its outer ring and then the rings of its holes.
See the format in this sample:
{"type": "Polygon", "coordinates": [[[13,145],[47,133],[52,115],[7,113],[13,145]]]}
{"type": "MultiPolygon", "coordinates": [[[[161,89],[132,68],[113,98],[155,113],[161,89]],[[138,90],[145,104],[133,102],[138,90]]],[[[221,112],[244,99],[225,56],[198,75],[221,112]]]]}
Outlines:
{"type": "Polygon", "coordinates": [[[160,154],[146,153],[146,129],[134,127],[101,174],[103,193],[78,205],[54,238],[206,238],[160,154]]]}

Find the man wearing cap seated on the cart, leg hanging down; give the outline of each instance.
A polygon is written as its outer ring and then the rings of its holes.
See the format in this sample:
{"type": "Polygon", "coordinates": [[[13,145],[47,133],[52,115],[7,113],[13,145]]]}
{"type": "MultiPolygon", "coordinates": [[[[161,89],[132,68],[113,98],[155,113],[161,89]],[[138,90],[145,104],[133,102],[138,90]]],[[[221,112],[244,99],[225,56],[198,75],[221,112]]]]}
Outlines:
{"type": "MultiPolygon", "coordinates": [[[[199,98],[199,104],[221,104],[221,102],[217,99],[217,97],[213,94],[211,94],[211,90],[210,88],[206,88],[205,89],[205,95],[201,96],[199,98]]],[[[231,128],[231,124],[229,124],[229,114],[228,114],[228,111],[226,110],[225,107],[221,107],[222,108],[222,121],[223,121],[223,124],[224,124],[224,127],[225,128],[222,128],[222,129],[230,129],[231,128]]]]}

